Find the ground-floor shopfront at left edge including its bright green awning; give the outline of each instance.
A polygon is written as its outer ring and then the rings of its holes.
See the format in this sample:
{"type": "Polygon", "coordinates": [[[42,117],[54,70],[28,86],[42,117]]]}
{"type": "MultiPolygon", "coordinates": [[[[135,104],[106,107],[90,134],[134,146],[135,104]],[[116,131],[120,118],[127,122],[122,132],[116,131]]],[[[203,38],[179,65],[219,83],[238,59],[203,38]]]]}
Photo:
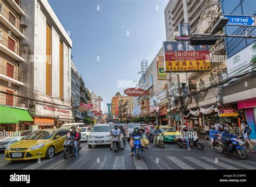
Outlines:
{"type": "Polygon", "coordinates": [[[6,132],[12,134],[15,131],[28,129],[33,122],[28,110],[21,107],[0,105],[0,113],[0,136],[6,132]]]}

